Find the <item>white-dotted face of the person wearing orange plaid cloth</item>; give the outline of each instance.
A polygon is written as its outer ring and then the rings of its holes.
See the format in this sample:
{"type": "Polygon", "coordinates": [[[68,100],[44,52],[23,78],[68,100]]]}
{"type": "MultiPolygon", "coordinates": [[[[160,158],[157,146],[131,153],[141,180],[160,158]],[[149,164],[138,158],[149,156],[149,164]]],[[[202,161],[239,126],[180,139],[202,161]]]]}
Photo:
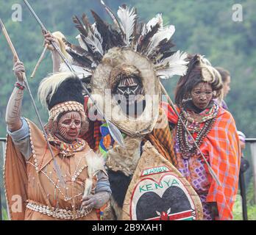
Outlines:
{"type": "Polygon", "coordinates": [[[193,104],[199,109],[206,109],[213,98],[213,89],[207,82],[201,82],[191,91],[193,104]]]}

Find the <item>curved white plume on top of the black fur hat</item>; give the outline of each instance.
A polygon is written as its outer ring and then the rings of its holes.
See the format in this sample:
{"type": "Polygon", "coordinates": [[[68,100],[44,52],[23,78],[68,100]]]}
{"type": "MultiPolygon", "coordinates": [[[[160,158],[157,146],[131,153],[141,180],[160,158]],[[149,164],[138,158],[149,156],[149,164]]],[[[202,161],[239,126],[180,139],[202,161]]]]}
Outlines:
{"type": "Polygon", "coordinates": [[[51,101],[52,95],[56,92],[57,88],[60,87],[65,79],[75,78],[74,73],[65,72],[65,73],[54,73],[51,76],[46,77],[40,82],[38,88],[38,98],[43,106],[47,108],[46,100],[51,101]]]}

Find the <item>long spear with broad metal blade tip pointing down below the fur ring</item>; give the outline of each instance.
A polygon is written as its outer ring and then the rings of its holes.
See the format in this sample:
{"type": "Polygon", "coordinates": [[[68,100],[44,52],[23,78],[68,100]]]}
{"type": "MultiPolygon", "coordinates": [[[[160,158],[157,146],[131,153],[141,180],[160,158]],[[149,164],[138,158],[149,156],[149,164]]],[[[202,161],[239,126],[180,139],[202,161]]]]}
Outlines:
{"type": "MultiPolygon", "coordinates": [[[[48,32],[48,30],[46,29],[45,26],[43,26],[43,23],[40,21],[40,19],[38,18],[38,15],[35,13],[35,11],[32,9],[32,7],[29,5],[28,1],[24,0],[24,3],[26,4],[26,6],[29,8],[29,11],[32,13],[32,15],[35,17],[36,21],[38,21],[38,24],[40,24],[41,29],[43,29],[43,31],[48,32]]],[[[60,51],[60,48],[57,46],[56,43],[51,42],[51,45],[54,47],[54,49],[57,50],[57,53],[60,55],[61,59],[63,59],[63,62],[65,62],[65,65],[68,66],[68,69],[72,72],[75,73],[74,69],[71,66],[71,63],[68,61],[67,58],[65,58],[65,56],[63,55],[62,51],[60,51]]],[[[88,89],[82,84],[85,92],[88,94],[89,98],[91,101],[93,101],[93,105],[96,106],[97,112],[99,112],[99,115],[101,115],[104,120],[106,121],[108,128],[110,130],[110,134],[113,137],[113,139],[118,142],[119,145],[121,145],[122,147],[124,147],[124,138],[121,134],[121,131],[119,131],[119,129],[112,123],[110,122],[110,120],[107,119],[107,117],[103,114],[102,110],[99,108],[99,106],[96,104],[96,101],[93,99],[92,95],[90,95],[88,89]]]]}

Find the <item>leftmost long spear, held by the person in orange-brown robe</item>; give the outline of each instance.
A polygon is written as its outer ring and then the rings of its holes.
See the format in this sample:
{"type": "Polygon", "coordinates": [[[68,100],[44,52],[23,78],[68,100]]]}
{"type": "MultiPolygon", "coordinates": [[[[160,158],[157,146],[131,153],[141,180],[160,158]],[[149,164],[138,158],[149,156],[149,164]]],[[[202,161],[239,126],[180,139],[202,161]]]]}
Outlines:
{"type": "MultiPolygon", "coordinates": [[[[14,48],[14,46],[13,46],[12,41],[10,40],[10,37],[9,37],[9,35],[8,35],[7,30],[6,30],[5,27],[4,27],[4,23],[1,21],[1,18],[0,18],[0,25],[1,25],[1,29],[2,29],[2,31],[3,31],[3,33],[4,33],[4,36],[5,36],[6,40],[7,40],[7,43],[9,44],[10,49],[11,49],[12,52],[13,52],[13,56],[14,56],[14,57],[17,59],[17,61],[19,62],[20,59],[18,58],[18,54],[17,54],[17,52],[16,52],[16,50],[15,50],[15,48],[14,48]]],[[[59,180],[60,180],[60,183],[63,184],[63,186],[65,186],[65,181],[64,181],[64,179],[63,179],[63,176],[62,176],[60,167],[59,167],[59,165],[57,164],[56,159],[54,159],[54,153],[53,153],[53,151],[52,151],[52,149],[51,149],[51,145],[50,145],[50,143],[49,143],[49,140],[47,139],[46,131],[45,131],[45,129],[43,128],[43,122],[42,122],[41,117],[40,117],[40,115],[39,115],[38,108],[37,108],[37,106],[35,105],[35,100],[34,100],[33,95],[32,95],[32,93],[31,93],[31,90],[30,90],[30,87],[29,87],[29,83],[28,83],[28,81],[27,81],[27,79],[26,79],[26,74],[25,74],[25,73],[22,73],[22,76],[23,76],[23,79],[24,79],[24,83],[25,83],[26,89],[28,90],[29,96],[30,96],[30,98],[31,98],[31,100],[32,100],[32,104],[33,104],[33,106],[34,106],[34,108],[35,108],[35,113],[36,113],[36,115],[38,116],[38,120],[39,120],[40,126],[41,126],[41,128],[42,128],[43,135],[44,135],[44,137],[45,137],[45,139],[46,139],[46,142],[47,142],[49,151],[51,152],[51,157],[52,157],[52,159],[53,159],[53,161],[54,161],[54,169],[56,170],[56,173],[57,173],[57,176],[58,176],[58,178],[59,178],[59,180]]],[[[38,170],[37,170],[37,171],[38,171],[38,170]]]]}

